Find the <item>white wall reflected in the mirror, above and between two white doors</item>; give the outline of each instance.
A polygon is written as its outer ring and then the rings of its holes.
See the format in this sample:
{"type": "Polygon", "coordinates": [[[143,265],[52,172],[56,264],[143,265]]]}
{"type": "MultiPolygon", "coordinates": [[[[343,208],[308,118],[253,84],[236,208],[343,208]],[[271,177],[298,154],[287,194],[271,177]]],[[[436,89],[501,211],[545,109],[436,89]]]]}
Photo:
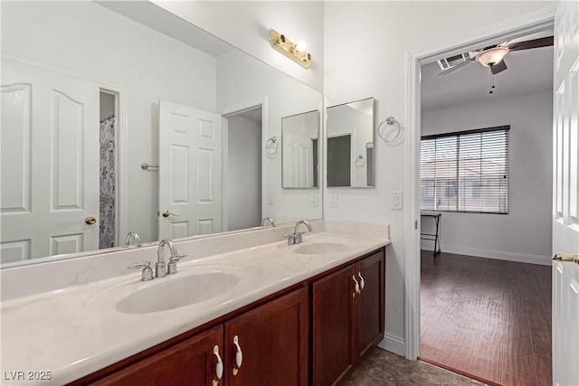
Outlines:
{"type": "Polygon", "coordinates": [[[214,58],[91,2],[2,2],[2,52],[126,91],[128,231],[157,240],[157,173],[139,165],[157,165],[158,100],[214,111],[214,58]]]}

